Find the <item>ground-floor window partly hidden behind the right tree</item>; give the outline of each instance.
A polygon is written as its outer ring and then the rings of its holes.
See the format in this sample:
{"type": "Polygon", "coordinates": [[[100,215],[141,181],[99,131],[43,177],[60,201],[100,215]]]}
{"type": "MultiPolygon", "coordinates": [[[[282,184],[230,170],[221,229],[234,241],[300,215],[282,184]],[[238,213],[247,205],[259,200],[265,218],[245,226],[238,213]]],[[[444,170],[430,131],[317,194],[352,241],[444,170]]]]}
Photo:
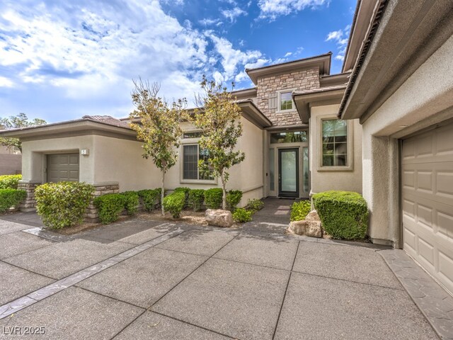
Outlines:
{"type": "Polygon", "coordinates": [[[207,150],[202,150],[195,145],[183,145],[183,179],[195,179],[212,181],[212,169],[201,171],[198,169],[198,161],[202,160],[210,166],[210,155],[207,150]]]}

